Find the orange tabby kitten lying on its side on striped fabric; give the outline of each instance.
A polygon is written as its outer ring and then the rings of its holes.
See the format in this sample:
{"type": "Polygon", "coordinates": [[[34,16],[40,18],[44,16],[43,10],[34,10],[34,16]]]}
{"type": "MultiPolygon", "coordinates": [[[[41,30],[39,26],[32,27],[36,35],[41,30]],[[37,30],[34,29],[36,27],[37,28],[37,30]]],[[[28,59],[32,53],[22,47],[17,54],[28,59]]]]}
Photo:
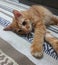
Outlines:
{"type": "Polygon", "coordinates": [[[33,5],[26,11],[13,11],[13,22],[4,30],[11,30],[19,34],[28,34],[34,29],[34,39],[31,45],[31,54],[42,57],[44,38],[58,53],[58,39],[46,32],[46,25],[58,24],[58,16],[41,5],[33,5]]]}

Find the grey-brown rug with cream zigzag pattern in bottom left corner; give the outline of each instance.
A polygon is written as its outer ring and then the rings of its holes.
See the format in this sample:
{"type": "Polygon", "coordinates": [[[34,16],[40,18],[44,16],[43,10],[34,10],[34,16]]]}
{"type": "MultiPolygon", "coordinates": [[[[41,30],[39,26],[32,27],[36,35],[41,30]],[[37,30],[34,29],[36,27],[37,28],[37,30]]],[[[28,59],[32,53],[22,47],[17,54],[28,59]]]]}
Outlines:
{"type": "Polygon", "coordinates": [[[0,38],[0,65],[35,65],[24,54],[0,38]]]}

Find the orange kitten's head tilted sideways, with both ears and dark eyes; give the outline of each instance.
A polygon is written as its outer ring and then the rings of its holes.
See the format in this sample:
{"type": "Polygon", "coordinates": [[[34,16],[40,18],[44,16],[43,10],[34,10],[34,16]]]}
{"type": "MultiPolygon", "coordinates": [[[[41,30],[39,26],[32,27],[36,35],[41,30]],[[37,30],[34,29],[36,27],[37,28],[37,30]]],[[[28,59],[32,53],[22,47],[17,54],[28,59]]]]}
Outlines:
{"type": "Polygon", "coordinates": [[[8,25],[4,30],[14,31],[18,34],[28,34],[32,30],[32,24],[28,17],[24,17],[19,11],[13,10],[13,22],[8,25]]]}

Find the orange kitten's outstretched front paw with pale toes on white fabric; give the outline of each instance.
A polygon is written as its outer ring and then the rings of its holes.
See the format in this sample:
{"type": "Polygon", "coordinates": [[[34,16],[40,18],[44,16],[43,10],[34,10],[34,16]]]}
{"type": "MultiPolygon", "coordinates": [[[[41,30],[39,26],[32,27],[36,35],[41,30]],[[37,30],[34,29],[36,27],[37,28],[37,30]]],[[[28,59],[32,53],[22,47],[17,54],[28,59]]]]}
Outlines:
{"type": "Polygon", "coordinates": [[[42,58],[43,56],[43,48],[42,45],[31,45],[31,54],[36,58],[42,58]]]}

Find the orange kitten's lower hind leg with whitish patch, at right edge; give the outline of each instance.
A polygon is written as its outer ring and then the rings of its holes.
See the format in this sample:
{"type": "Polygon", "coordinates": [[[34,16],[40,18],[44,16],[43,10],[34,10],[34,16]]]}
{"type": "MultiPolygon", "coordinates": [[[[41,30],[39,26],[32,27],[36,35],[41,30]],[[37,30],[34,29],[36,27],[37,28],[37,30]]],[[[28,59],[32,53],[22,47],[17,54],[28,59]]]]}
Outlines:
{"type": "Polygon", "coordinates": [[[58,38],[55,38],[54,36],[51,35],[51,33],[47,32],[45,35],[45,40],[51,44],[53,49],[58,54],[58,38]]]}

